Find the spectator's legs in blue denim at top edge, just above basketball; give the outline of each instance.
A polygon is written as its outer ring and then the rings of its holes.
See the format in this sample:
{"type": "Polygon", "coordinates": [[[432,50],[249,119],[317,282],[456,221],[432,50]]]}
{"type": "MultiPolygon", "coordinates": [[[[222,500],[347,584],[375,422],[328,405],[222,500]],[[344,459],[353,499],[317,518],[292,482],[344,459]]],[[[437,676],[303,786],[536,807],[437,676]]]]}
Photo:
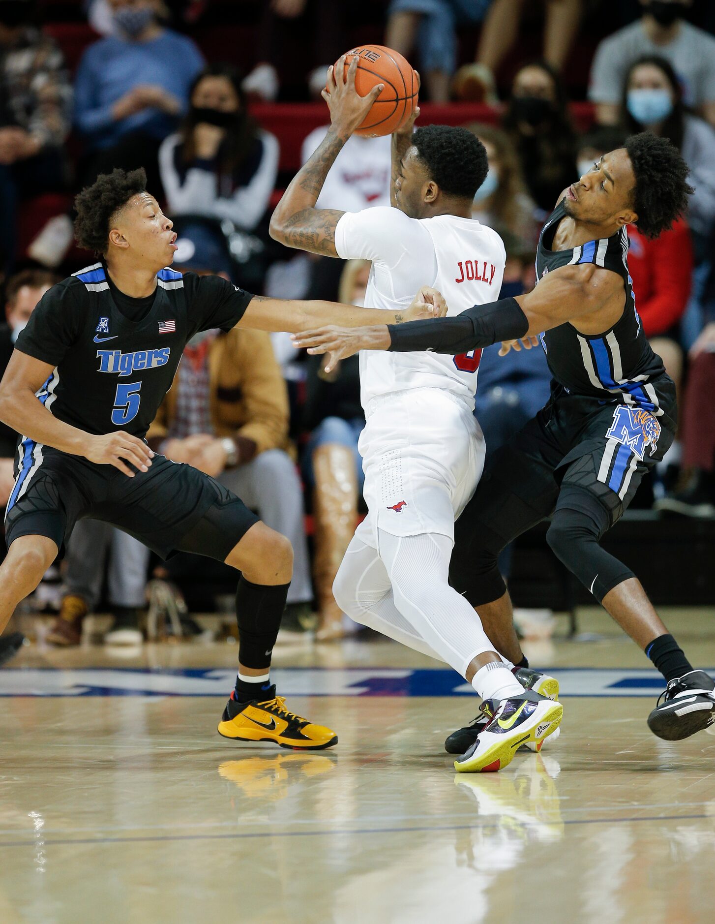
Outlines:
{"type": "Polygon", "coordinates": [[[423,86],[432,103],[449,100],[457,65],[457,28],[481,22],[490,4],[491,0],[392,0],[385,44],[407,59],[418,48],[423,86]]]}

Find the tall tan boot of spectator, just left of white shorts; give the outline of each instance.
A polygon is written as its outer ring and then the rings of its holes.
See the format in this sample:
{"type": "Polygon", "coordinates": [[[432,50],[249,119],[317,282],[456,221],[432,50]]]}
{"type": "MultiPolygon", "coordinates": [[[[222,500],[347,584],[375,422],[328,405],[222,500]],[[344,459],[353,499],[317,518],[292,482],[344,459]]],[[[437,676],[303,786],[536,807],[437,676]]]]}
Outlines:
{"type": "Polygon", "coordinates": [[[313,579],[320,625],[316,638],[342,638],[343,613],[333,598],[333,580],[355,532],[358,477],[355,456],[347,446],[329,443],[313,452],[315,556],[313,579]]]}

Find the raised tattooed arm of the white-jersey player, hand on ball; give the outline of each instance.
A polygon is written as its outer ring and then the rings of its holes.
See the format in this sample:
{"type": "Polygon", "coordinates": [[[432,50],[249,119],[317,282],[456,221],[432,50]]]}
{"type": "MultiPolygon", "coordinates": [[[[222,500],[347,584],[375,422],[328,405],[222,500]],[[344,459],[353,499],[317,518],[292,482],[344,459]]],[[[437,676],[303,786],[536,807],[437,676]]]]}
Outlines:
{"type": "Polygon", "coordinates": [[[336,209],[316,209],[315,203],[345,141],[368,115],[370,106],[382,91],[381,83],[367,96],[360,96],[355,89],[358,58],[354,57],[350,62],[346,75],[344,64],[345,55],[338,63],[337,74],[333,67],[329,68],[328,86],[331,91],[322,91],[322,97],[330,107],[331,127],[317,151],[293,177],[271,217],[270,230],[274,240],[286,247],[309,250],[327,257],[337,257],[335,225],[344,213],[336,209]]]}

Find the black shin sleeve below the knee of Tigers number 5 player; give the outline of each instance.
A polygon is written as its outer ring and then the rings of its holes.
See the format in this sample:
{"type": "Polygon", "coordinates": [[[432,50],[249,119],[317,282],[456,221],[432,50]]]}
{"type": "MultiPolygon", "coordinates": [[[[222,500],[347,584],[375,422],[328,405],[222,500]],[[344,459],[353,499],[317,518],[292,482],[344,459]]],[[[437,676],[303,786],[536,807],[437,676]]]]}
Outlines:
{"type": "Polygon", "coordinates": [[[236,589],[238,663],[266,673],[285,610],[290,584],[251,584],[245,577],[236,589]]]}

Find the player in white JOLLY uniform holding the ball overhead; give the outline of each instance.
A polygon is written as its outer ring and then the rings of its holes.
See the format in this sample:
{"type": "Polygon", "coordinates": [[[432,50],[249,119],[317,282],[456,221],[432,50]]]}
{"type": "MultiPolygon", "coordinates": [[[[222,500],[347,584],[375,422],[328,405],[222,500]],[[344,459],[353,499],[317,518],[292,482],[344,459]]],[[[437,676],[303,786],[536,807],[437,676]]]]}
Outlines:
{"type": "MultiPolygon", "coordinates": [[[[389,312],[414,280],[429,281],[453,311],[496,298],[505,261],[501,238],[471,218],[487,175],[484,146],[464,128],[412,124],[393,138],[394,208],[358,213],[315,208],[338,152],[370,110],[355,90],[357,58],[329,70],[323,95],[332,125],[286,189],[273,237],[314,253],[372,261],[366,304],[389,312]],[[460,274],[466,261],[474,271],[460,274]]],[[[448,583],[454,518],[474,492],[484,439],[473,415],[479,353],[460,357],[366,354],[360,358],[366,425],[360,436],[368,517],[340,566],[333,592],[345,613],[439,658],[485,700],[500,701],[494,733],[458,770],[498,770],[522,744],[540,746],[562,707],[526,690],[494,650],[479,618],[448,583]]]]}

